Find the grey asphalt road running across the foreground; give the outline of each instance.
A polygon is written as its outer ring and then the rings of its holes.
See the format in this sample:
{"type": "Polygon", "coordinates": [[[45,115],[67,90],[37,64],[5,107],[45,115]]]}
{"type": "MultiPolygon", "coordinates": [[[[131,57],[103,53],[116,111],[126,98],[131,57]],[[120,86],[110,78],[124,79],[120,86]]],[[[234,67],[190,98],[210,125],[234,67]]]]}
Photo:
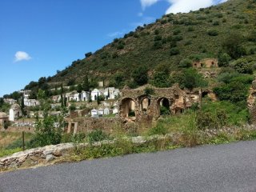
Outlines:
{"type": "Polygon", "coordinates": [[[131,154],[0,174],[0,192],[256,191],[256,142],[131,154]]]}

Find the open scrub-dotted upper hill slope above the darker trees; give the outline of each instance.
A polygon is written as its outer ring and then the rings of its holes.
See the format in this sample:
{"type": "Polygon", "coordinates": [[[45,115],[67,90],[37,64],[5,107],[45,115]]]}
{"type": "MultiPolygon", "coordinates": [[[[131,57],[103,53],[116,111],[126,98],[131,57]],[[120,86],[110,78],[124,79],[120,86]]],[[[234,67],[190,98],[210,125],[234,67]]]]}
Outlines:
{"type": "Polygon", "coordinates": [[[138,26],[124,38],[114,39],[91,56],[73,62],[50,78],[50,82],[69,79],[79,82],[85,74],[98,80],[111,80],[117,71],[124,72],[129,79],[134,68],[146,66],[153,71],[159,64],[177,70],[182,58],[218,58],[230,34],[244,38],[244,56],[253,60],[256,46],[248,37],[255,30],[255,8],[254,0],[230,0],[188,14],[165,15],[152,24],[138,26]]]}

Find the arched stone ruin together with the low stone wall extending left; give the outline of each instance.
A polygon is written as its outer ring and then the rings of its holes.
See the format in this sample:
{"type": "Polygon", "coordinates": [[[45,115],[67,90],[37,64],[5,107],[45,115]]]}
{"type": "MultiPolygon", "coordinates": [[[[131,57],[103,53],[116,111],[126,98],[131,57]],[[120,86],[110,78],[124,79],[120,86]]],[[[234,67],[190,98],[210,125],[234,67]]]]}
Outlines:
{"type": "Polygon", "coordinates": [[[125,86],[118,100],[119,114],[115,118],[90,118],[84,114],[70,114],[66,118],[67,133],[90,132],[95,129],[111,132],[114,127],[130,128],[151,127],[164,114],[181,114],[194,103],[201,106],[203,94],[210,96],[208,90],[182,90],[178,84],[170,88],[156,88],[146,85],[137,89],[125,86]],[[151,90],[152,93],[147,93],[151,90]],[[165,111],[162,111],[164,107],[165,111]]]}

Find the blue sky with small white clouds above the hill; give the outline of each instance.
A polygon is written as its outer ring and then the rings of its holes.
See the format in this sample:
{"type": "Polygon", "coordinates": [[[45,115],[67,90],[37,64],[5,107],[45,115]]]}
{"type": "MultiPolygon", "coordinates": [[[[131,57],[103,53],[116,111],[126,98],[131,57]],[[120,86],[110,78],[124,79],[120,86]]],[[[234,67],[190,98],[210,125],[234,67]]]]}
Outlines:
{"type": "Polygon", "coordinates": [[[221,1],[1,0],[0,97],[56,74],[166,11],[187,12],[221,1]]]}

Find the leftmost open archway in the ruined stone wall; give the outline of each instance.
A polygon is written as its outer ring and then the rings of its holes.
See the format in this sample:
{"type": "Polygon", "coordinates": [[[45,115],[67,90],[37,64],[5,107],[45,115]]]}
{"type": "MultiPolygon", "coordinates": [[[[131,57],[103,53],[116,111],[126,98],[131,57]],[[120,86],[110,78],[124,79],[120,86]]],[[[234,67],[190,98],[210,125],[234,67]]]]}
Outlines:
{"type": "Polygon", "coordinates": [[[122,99],[120,112],[122,118],[136,118],[134,100],[132,98],[122,99]]]}

